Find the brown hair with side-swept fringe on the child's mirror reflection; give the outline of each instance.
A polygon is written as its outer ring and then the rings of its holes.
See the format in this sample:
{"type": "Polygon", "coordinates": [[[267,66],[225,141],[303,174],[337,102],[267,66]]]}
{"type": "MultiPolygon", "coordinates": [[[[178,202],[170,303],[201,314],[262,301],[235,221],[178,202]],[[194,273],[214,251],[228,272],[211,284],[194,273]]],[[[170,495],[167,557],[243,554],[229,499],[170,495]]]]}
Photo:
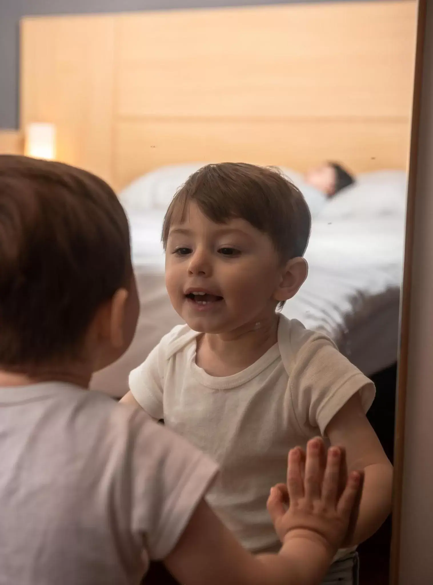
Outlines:
{"type": "Polygon", "coordinates": [[[311,215],[295,185],[278,170],[246,163],[208,164],[177,191],[164,218],[162,240],[170,226],[183,222],[195,203],[215,223],[244,219],[266,233],[280,260],[303,256],[310,237],[311,215]]]}

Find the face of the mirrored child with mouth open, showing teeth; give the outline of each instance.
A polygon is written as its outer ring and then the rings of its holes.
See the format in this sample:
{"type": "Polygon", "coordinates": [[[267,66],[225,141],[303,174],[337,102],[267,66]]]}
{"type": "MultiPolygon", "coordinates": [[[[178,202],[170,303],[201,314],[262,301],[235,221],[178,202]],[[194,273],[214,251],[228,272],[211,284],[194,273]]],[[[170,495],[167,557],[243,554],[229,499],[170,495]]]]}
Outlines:
{"type": "Polygon", "coordinates": [[[243,219],[214,223],[190,204],[170,228],[167,291],[194,331],[233,332],[273,315],[283,274],[269,236],[243,219]]]}

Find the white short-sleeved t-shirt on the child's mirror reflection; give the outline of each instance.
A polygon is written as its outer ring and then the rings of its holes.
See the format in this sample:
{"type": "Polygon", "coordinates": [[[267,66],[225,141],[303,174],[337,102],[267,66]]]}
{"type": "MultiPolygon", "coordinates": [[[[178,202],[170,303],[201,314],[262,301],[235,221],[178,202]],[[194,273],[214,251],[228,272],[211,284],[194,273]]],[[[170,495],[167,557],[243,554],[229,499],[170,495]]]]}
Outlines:
{"type": "Polygon", "coordinates": [[[283,315],[278,343],[233,376],[209,376],[197,366],[198,335],[175,327],[132,371],[130,390],[151,417],[219,464],[207,501],[245,548],[278,550],[266,501],[270,488],[286,481],[288,449],[324,435],[360,390],[367,411],[373,383],[326,336],[283,315]]]}

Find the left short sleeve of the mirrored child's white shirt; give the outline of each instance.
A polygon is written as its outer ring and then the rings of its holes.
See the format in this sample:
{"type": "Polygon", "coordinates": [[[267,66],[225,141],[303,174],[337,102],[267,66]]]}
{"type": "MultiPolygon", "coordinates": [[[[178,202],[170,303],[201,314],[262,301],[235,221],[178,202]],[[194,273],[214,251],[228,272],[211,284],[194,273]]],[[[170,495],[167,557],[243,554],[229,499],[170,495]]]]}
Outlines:
{"type": "Polygon", "coordinates": [[[164,358],[164,343],[161,340],[146,360],[129,374],[131,394],[140,407],[156,420],[164,418],[164,358]]]}

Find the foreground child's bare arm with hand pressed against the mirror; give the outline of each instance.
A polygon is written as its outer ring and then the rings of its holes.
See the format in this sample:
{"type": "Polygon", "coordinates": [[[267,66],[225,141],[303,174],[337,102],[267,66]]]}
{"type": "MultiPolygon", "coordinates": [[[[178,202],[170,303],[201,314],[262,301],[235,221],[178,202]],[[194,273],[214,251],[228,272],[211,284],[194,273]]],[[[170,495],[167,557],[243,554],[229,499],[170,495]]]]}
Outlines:
{"type": "Polygon", "coordinates": [[[270,495],[268,510],[285,535],[278,555],[250,555],[201,501],[165,561],[174,577],[184,585],[318,585],[346,533],[361,479],[352,473],[338,498],[341,453],[331,449],[324,470],[320,446],[308,443],[305,480],[300,450],[290,453],[287,511],[276,491],[270,495]]]}

